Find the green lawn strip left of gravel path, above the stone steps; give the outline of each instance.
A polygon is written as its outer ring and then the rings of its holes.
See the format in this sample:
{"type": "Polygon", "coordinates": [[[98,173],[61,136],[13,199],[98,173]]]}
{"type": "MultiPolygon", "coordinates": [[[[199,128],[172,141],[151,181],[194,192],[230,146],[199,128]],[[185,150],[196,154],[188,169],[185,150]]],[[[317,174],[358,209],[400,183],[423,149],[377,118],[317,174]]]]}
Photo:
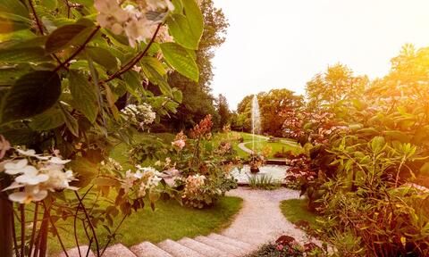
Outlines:
{"type": "MultiPolygon", "coordinates": [[[[204,210],[182,207],[175,200],[158,201],[155,211],[152,211],[147,204],[144,209],[134,212],[123,222],[118,231],[119,236],[112,245],[121,243],[130,246],[143,241],[157,243],[167,238],[178,240],[184,236],[206,236],[212,232],[219,232],[231,224],[234,215],[240,211],[241,203],[242,199],[238,197],[225,196],[213,208],[204,210]]],[[[115,226],[121,219],[122,217],[119,216],[114,219],[115,226]]],[[[71,233],[73,221],[58,222],[62,227],[60,235],[64,245],[67,248],[75,247],[74,235],[71,233]]],[[[107,231],[99,226],[97,235],[103,245],[108,235],[107,231]]],[[[78,236],[80,245],[88,244],[83,229],[80,229],[78,236]]],[[[62,251],[56,238],[49,238],[48,245],[50,253],[62,251]]]]}

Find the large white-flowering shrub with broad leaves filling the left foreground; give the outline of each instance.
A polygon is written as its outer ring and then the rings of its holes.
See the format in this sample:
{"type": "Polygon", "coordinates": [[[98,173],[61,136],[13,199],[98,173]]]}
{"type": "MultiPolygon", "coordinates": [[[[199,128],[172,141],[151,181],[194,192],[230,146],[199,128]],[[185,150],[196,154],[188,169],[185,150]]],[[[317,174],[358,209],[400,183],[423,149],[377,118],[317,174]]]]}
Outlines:
{"type": "MultiPolygon", "coordinates": [[[[2,191],[0,209],[10,209],[9,197],[21,213],[20,235],[11,231],[0,250],[12,255],[13,246],[21,256],[45,256],[48,232],[63,245],[55,225],[62,218],[82,222],[85,245],[95,245],[100,256],[122,225],[113,227],[113,217],[125,220],[145,198],[154,208],[162,193],[170,194],[155,169],[125,172],[108,156],[114,143],[131,143],[133,126],[148,129],[176,112],[182,94],[169,86],[169,72],[198,81],[195,51],[204,29],[198,3],[8,0],[0,3],[0,17],[0,171],[7,171],[0,174],[1,188],[14,181],[2,191]],[[147,82],[161,94],[148,91],[147,82]],[[118,104],[127,95],[130,105],[118,104]],[[75,187],[72,194],[63,191],[75,187]],[[102,198],[111,204],[98,208],[102,198]],[[17,203],[34,205],[29,233],[25,208],[17,203]],[[109,232],[105,246],[100,227],[109,232]]],[[[13,216],[0,222],[10,228],[13,216]]]]}

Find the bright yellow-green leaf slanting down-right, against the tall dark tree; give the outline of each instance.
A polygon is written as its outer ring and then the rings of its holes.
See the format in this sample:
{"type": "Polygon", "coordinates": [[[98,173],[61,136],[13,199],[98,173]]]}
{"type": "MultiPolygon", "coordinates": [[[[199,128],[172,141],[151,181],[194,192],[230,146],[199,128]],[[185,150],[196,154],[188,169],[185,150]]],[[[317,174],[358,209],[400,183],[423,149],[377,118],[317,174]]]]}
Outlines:
{"type": "Polygon", "coordinates": [[[198,82],[199,71],[197,63],[185,48],[175,43],[164,43],[160,47],[165,61],[172,65],[172,68],[183,76],[198,82]]]}

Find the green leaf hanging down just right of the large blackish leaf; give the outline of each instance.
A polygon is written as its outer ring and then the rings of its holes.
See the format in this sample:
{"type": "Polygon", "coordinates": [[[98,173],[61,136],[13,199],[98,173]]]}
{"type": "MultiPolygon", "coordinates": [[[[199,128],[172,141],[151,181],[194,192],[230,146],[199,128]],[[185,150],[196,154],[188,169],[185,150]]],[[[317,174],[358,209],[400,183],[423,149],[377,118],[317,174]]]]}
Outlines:
{"type": "Polygon", "coordinates": [[[74,107],[82,112],[91,123],[94,123],[99,111],[97,88],[76,70],[70,71],[69,80],[74,107]]]}

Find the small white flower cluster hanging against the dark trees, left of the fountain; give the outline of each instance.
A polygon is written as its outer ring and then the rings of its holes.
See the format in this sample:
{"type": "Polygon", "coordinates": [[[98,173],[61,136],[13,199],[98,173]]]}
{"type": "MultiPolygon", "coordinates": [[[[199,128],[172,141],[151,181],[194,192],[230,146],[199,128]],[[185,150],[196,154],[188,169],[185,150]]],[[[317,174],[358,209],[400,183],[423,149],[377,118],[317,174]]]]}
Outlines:
{"type": "Polygon", "coordinates": [[[139,125],[141,129],[145,125],[151,124],[156,119],[156,113],[152,111],[152,106],[149,104],[128,104],[122,109],[122,113],[127,116],[132,124],[139,125]]]}

